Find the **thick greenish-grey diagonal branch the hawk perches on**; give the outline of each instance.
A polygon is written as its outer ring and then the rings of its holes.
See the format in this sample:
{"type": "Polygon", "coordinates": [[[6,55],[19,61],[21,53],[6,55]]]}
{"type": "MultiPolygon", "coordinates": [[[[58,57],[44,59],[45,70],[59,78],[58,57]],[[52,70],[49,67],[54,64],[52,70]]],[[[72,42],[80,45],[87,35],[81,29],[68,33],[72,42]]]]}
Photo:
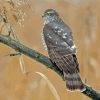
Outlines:
{"type": "MultiPolygon", "coordinates": [[[[55,64],[51,62],[51,60],[44,56],[43,54],[32,50],[28,48],[27,46],[21,44],[18,41],[13,40],[11,37],[5,36],[5,35],[0,35],[0,43],[6,44],[7,46],[15,49],[15,51],[20,52],[32,59],[35,59],[36,61],[44,64],[47,68],[52,69],[55,71],[59,76],[63,78],[63,73],[60,71],[55,64]]],[[[86,90],[83,91],[82,93],[85,94],[86,96],[90,97],[93,100],[100,100],[100,93],[96,92],[94,89],[91,87],[87,86],[85,84],[86,90]]]]}

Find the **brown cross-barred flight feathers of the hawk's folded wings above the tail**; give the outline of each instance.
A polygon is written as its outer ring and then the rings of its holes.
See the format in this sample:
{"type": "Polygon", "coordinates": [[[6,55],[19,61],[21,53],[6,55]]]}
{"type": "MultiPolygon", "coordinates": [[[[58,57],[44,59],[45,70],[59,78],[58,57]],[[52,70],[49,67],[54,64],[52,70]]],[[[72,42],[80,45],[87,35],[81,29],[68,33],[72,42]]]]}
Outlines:
{"type": "Polygon", "coordinates": [[[66,74],[78,73],[79,64],[75,54],[61,55],[55,50],[48,50],[49,56],[56,65],[63,70],[66,74]]]}

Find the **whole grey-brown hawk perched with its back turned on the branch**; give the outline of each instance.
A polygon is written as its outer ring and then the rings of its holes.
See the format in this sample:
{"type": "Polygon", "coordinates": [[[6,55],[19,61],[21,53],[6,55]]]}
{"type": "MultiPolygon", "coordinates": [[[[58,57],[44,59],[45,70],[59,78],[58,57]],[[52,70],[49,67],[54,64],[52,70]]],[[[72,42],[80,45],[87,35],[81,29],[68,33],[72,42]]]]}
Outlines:
{"type": "Polygon", "coordinates": [[[52,8],[45,10],[42,18],[44,20],[43,45],[48,51],[52,63],[55,63],[59,70],[63,72],[67,90],[84,91],[85,86],[79,75],[76,45],[70,27],[52,8]]]}

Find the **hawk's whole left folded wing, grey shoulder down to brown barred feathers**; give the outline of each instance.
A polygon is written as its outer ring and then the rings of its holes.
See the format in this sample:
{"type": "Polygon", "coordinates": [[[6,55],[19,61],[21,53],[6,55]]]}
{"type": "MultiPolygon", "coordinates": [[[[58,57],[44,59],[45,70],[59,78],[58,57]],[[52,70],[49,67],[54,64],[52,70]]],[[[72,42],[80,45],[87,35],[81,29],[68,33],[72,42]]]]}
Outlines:
{"type": "Polygon", "coordinates": [[[51,60],[66,73],[79,72],[75,51],[67,41],[64,41],[50,25],[45,25],[43,34],[51,60]]]}

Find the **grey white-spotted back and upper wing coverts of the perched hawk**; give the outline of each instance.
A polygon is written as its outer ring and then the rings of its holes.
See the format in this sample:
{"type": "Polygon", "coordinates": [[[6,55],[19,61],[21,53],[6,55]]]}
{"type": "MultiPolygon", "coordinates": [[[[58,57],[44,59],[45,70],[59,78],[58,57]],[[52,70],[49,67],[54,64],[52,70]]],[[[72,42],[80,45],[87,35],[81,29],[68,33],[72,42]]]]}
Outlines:
{"type": "Polygon", "coordinates": [[[73,54],[76,53],[76,46],[73,43],[73,37],[70,29],[64,24],[61,23],[49,23],[44,26],[43,35],[47,48],[55,50],[62,54],[73,54]],[[53,47],[50,47],[50,43],[53,44],[53,47]]]}

